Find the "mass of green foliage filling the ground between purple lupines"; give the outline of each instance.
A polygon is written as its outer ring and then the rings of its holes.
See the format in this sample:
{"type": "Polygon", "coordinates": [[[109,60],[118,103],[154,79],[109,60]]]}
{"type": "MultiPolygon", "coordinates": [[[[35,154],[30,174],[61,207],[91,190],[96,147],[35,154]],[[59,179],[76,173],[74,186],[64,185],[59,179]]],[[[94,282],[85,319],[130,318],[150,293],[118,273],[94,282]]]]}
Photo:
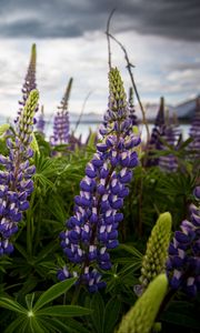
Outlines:
{"type": "MultiPolygon", "coordinates": [[[[114,94],[119,102],[118,89],[114,94]]],[[[104,119],[104,123],[107,121],[104,119]]],[[[136,132],[133,128],[132,133],[136,132]]],[[[13,127],[0,127],[0,154],[4,157],[10,153],[9,133],[14,135],[13,127]]],[[[189,206],[194,201],[192,193],[199,185],[199,159],[192,160],[197,151],[189,150],[192,139],[180,140],[176,148],[161,139],[164,150],[152,150],[151,154],[144,143],[137,150],[140,163],[133,170],[129,195],[121,209],[120,245],[109,250],[111,269],[100,269],[107,286],[89,293],[76,278],[58,283],[57,274],[66,265],[59,234],[74,213],[74,196],[79,194],[86,165],[96,152],[97,133],[90,134],[87,144],[74,144],[73,149],[71,143],[52,147],[40,132],[31,138],[33,157],[30,163],[36,165],[33,192],[19,230],[12,235],[13,253],[0,256],[1,332],[127,333],[126,325],[133,330],[136,323],[140,331],[130,332],[150,332],[151,327],[161,332],[199,332],[199,295],[188,297],[179,289],[174,291],[169,286],[167,290],[166,276],[159,275],[168,256],[170,230],[173,235],[181,222],[189,219],[189,206]],[[147,167],[147,159],[169,154],[177,159],[174,172],[162,171],[158,165],[147,167]],[[134,290],[141,282],[142,266],[150,279],[138,299],[134,290]],[[161,270],[151,274],[152,266],[161,270]],[[143,317],[146,314],[150,315],[148,320],[143,317]]],[[[107,144],[112,142],[107,141],[107,144]]],[[[1,182],[2,170],[0,165],[1,182]]],[[[4,204],[2,189],[0,184],[1,210],[4,204]]],[[[67,264],[73,271],[74,264],[67,264]]]]}

